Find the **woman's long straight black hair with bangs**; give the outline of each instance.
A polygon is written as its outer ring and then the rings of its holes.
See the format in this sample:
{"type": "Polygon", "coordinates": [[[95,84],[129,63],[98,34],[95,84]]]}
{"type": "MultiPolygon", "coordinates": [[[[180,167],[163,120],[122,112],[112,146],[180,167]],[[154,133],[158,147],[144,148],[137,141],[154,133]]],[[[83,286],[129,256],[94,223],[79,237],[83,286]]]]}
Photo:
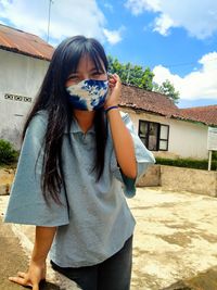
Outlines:
{"type": "MultiPolygon", "coordinates": [[[[35,105],[23,129],[24,139],[33,117],[41,110],[47,111],[48,127],[43,140],[44,153],[41,173],[41,189],[46,201],[51,197],[56,203],[61,203],[59,192],[62,186],[65,187],[61,152],[64,130],[65,128],[69,130],[73,119],[73,110],[67,99],[65,84],[69,74],[76,72],[82,55],[88,55],[98,71],[105,70],[107,72],[107,59],[103,47],[98,40],[75,36],[62,41],[53,53],[35,105]]],[[[99,180],[103,173],[107,138],[103,109],[99,109],[95,112],[94,129],[97,150],[93,169],[97,169],[97,179],[99,180]]]]}

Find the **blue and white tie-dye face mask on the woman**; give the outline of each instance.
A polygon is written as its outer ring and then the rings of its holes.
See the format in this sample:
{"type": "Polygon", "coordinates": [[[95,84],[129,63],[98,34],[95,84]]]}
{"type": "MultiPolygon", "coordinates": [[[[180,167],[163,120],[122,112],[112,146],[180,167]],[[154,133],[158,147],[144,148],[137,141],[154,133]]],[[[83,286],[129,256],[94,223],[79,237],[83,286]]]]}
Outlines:
{"type": "Polygon", "coordinates": [[[94,111],[102,108],[108,91],[107,80],[85,79],[66,88],[74,109],[94,111]]]}

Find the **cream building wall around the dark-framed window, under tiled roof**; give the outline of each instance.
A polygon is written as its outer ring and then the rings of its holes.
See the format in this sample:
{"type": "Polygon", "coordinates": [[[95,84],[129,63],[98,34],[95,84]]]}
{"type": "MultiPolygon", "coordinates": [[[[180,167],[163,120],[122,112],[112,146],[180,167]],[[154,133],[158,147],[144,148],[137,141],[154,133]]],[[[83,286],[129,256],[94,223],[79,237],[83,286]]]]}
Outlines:
{"type": "Polygon", "coordinates": [[[164,116],[128,112],[138,133],[139,119],[169,125],[168,151],[153,151],[155,156],[207,159],[208,126],[199,123],[166,118],[164,116]]]}

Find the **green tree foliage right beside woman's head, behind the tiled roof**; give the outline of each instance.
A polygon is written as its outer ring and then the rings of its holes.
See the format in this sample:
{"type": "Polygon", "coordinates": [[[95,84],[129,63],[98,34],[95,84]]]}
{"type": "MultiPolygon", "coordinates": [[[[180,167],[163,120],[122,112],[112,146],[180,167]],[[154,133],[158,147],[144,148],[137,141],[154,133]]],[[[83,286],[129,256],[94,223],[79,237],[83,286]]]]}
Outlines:
{"type": "Polygon", "coordinates": [[[140,65],[132,65],[131,63],[122,64],[117,59],[113,59],[111,55],[107,56],[108,60],[108,72],[111,74],[117,74],[122,81],[142,88],[145,90],[153,89],[153,77],[154,74],[146,67],[142,68],[140,65]]]}

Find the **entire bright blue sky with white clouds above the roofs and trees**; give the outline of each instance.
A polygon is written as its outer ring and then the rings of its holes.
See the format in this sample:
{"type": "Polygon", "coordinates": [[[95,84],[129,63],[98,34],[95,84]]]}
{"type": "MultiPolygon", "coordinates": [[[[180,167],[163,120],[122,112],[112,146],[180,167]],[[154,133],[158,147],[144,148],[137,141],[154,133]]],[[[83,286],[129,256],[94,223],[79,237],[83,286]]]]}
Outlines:
{"type": "MultiPolygon", "coordinates": [[[[0,23],[47,39],[49,0],[0,0],[0,23]]],[[[98,38],[120,62],[153,70],[179,108],[217,104],[216,0],[52,0],[49,42],[98,38]]]]}

